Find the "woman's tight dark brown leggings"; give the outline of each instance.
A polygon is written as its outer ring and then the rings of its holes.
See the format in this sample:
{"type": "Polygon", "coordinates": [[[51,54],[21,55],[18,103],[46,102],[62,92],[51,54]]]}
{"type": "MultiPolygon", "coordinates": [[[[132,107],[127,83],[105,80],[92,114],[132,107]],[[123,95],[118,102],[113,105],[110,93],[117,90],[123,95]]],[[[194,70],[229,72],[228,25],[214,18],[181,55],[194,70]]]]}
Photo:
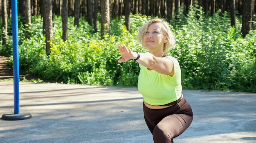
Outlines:
{"type": "Polygon", "coordinates": [[[184,97],[177,104],[164,109],[150,109],[143,103],[143,111],[154,143],[173,143],[173,138],[189,128],[193,120],[192,109],[184,97]]]}

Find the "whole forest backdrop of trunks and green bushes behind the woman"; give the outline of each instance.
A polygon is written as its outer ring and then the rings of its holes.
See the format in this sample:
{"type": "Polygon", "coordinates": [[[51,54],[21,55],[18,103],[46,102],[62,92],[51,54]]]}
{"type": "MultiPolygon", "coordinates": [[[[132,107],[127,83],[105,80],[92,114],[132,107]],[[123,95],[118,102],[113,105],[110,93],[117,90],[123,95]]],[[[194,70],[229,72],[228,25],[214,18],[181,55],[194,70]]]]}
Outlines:
{"type": "MultiPolygon", "coordinates": [[[[10,57],[11,67],[11,4],[1,5],[0,56],[10,57]]],[[[180,62],[183,89],[256,92],[255,0],[23,0],[18,8],[24,73],[135,87],[138,63],[118,63],[117,45],[146,52],[137,32],[159,17],[176,35],[168,54],[180,62]]]]}

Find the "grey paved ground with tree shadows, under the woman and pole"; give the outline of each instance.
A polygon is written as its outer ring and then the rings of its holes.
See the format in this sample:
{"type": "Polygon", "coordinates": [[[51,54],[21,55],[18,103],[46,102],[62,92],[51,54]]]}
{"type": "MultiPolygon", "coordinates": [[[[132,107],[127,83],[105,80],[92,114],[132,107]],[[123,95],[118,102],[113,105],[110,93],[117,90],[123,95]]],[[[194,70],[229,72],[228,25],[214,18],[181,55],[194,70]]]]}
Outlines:
{"type": "MultiPolygon", "coordinates": [[[[0,117],[13,114],[13,82],[0,82],[0,117]]],[[[175,143],[256,143],[256,93],[184,90],[194,119],[175,143]]],[[[153,143],[134,87],[19,83],[20,114],[0,119],[0,143],[153,143]]]]}

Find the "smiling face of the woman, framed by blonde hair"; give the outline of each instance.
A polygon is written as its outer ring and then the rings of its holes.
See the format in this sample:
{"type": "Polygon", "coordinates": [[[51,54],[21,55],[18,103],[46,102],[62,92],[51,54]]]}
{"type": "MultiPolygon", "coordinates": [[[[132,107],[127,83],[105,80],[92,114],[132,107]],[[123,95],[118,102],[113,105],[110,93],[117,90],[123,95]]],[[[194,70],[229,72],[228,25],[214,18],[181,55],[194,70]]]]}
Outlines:
{"type": "Polygon", "coordinates": [[[153,23],[148,26],[146,33],[143,36],[143,42],[146,48],[153,50],[156,48],[163,48],[164,35],[162,34],[161,24],[153,23]]]}

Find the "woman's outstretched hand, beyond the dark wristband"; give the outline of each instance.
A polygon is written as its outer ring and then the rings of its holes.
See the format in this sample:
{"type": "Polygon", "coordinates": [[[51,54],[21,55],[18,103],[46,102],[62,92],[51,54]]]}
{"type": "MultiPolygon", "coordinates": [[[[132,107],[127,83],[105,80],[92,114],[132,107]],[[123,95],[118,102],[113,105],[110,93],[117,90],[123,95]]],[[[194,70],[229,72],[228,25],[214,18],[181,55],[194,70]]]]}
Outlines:
{"type": "Polygon", "coordinates": [[[132,52],[130,49],[128,49],[125,45],[118,45],[118,50],[123,56],[118,60],[119,63],[126,62],[130,59],[135,59],[135,54],[137,55],[136,52],[132,52]]]}

